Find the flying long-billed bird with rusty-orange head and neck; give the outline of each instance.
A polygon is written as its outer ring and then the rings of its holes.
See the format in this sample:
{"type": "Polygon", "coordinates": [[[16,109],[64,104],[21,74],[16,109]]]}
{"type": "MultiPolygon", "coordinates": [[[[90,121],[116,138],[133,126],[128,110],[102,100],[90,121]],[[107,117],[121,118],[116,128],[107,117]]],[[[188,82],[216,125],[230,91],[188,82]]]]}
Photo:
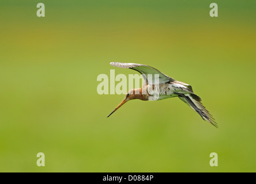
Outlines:
{"type": "Polygon", "coordinates": [[[119,63],[111,62],[114,67],[130,68],[140,72],[144,78],[144,83],[139,89],[131,89],[125,95],[123,101],[107,116],[110,117],[117,109],[121,108],[123,104],[131,99],[140,99],[142,101],[158,101],[161,99],[178,97],[187,105],[197,112],[203,120],[210,122],[214,127],[218,128],[213,116],[202,105],[202,99],[194,94],[191,85],[187,83],[176,81],[174,78],[163,74],[156,68],[147,66],[145,64],[136,63],[119,63]],[[152,76],[155,76],[153,78],[152,76]]]}

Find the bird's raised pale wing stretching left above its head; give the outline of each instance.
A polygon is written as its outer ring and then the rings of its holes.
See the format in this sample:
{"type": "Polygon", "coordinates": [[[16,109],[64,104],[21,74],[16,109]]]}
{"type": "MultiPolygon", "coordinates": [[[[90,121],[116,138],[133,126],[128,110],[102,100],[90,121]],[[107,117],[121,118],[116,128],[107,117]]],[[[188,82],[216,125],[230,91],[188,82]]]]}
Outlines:
{"type": "Polygon", "coordinates": [[[140,74],[143,76],[143,78],[147,84],[153,83],[156,85],[158,82],[166,83],[166,82],[174,82],[175,81],[175,79],[163,74],[156,68],[147,66],[145,64],[119,63],[119,62],[112,62],[110,64],[114,67],[130,68],[130,69],[140,72],[140,74]],[[149,75],[149,74],[151,74],[151,75],[149,75]],[[159,75],[159,78],[156,77],[158,75],[159,75]]]}

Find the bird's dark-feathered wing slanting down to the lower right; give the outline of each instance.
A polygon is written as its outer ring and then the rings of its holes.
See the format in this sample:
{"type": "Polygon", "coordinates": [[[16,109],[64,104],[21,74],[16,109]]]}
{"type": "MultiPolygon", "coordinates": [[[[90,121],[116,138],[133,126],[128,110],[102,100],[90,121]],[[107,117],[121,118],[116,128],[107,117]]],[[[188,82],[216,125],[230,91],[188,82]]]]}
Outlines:
{"type": "Polygon", "coordinates": [[[197,112],[203,120],[210,122],[214,127],[218,128],[217,123],[214,121],[212,115],[206,110],[205,106],[201,103],[201,98],[195,94],[180,94],[179,98],[197,112]]]}

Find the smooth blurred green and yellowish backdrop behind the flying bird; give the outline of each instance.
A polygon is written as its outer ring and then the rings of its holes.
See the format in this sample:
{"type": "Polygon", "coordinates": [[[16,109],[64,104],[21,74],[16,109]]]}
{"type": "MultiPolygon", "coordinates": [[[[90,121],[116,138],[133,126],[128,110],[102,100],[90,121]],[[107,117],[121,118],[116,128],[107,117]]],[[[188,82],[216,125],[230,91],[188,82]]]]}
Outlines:
{"type": "Polygon", "coordinates": [[[0,171],[255,172],[255,5],[1,1],[0,171]],[[124,95],[97,94],[97,75],[137,74],[110,62],[189,83],[219,129],[178,98],[131,101],[107,118],[124,95]]]}

